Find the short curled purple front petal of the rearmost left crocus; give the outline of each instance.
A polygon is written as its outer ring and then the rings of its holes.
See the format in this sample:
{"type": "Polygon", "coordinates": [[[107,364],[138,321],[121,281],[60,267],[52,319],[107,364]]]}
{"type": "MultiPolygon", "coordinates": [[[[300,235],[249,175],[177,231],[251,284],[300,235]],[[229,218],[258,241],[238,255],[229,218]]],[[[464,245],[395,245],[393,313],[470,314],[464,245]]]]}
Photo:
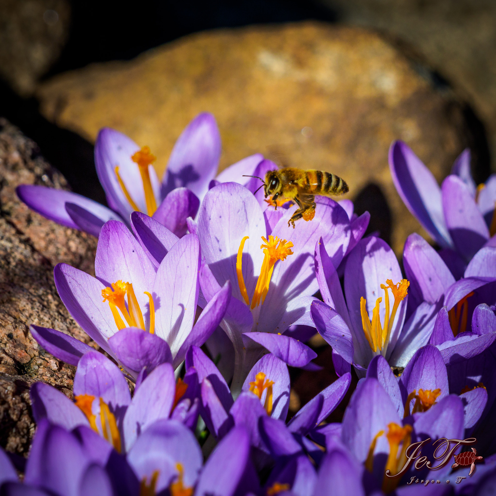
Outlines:
{"type": "Polygon", "coordinates": [[[187,231],[186,219],[194,219],[199,206],[200,200],[192,191],[185,187],[177,187],[162,200],[153,214],[153,219],[182,238],[187,231]]]}

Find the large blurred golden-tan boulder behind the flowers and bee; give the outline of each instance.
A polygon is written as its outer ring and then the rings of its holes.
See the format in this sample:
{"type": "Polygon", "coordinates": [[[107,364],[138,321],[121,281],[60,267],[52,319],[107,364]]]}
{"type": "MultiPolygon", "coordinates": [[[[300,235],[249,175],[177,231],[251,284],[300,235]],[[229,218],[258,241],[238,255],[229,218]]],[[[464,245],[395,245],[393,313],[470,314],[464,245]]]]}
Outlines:
{"type": "Polygon", "coordinates": [[[377,183],[396,252],[420,226],[392,185],[390,143],[405,140],[438,181],[467,144],[461,106],[397,49],[362,29],[314,22],[198,33],[130,62],[59,75],[37,96],[47,119],[87,139],[111,126],[149,145],[160,174],[184,126],[209,111],[222,135],[221,168],[261,152],[338,174],[351,198],[377,183]]]}

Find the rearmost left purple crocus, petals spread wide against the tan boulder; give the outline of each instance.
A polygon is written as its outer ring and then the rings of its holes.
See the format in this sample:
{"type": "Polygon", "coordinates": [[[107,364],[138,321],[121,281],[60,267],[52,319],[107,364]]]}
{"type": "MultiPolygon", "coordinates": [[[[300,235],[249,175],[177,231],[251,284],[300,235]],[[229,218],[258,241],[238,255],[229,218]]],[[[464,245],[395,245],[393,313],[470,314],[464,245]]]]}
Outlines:
{"type": "MultiPolygon", "coordinates": [[[[188,217],[195,217],[200,200],[214,179],[221,154],[221,138],[214,117],[196,116],[172,150],[162,183],[151,165],[150,149],[125,134],[104,127],[95,143],[95,165],[110,208],[69,191],[21,185],[17,195],[31,209],[63,226],[98,236],[108,220],[128,223],[134,211],[153,216],[178,237],[186,234],[188,217]]],[[[263,159],[252,155],[220,175],[242,181],[263,159]]],[[[218,178],[219,180],[219,178],[218,178]]]]}

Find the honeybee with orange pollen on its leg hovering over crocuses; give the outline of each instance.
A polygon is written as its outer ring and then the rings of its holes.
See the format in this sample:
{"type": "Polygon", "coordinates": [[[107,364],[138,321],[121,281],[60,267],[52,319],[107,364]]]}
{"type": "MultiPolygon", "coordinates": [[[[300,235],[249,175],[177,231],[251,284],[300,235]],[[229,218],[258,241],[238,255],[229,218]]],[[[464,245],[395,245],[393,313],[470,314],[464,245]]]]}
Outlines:
{"type": "MultiPolygon", "coordinates": [[[[335,174],[323,171],[296,169],[284,167],[278,171],[268,171],[265,181],[257,176],[246,176],[257,178],[263,182],[265,198],[272,195],[272,201],[286,198],[294,201],[300,208],[288,221],[288,226],[295,221],[305,219],[309,221],[315,215],[315,195],[336,196],[347,193],[348,185],[335,174]]],[[[260,186],[260,187],[262,187],[260,186]]],[[[277,203],[276,203],[277,209],[277,203]]]]}

